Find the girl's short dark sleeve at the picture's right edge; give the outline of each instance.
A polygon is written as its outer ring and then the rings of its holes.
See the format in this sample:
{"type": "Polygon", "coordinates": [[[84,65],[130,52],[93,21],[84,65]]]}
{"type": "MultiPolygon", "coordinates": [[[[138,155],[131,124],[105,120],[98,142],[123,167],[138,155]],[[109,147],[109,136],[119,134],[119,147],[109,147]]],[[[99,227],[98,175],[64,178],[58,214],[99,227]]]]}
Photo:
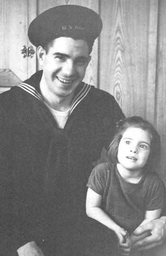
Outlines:
{"type": "Polygon", "coordinates": [[[163,181],[160,180],[158,175],[155,177],[155,182],[150,189],[150,200],[147,202],[146,210],[163,209],[165,202],[165,189],[163,181]]]}

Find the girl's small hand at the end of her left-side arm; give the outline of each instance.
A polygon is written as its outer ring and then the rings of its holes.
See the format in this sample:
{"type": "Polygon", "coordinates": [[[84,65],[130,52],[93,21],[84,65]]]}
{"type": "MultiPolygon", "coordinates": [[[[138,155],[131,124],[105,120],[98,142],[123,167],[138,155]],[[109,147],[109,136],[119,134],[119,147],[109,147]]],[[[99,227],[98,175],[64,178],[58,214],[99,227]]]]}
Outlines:
{"type": "Polygon", "coordinates": [[[125,235],[123,236],[123,241],[119,242],[119,250],[122,256],[128,256],[131,250],[131,241],[129,233],[126,230],[124,231],[125,235]]]}

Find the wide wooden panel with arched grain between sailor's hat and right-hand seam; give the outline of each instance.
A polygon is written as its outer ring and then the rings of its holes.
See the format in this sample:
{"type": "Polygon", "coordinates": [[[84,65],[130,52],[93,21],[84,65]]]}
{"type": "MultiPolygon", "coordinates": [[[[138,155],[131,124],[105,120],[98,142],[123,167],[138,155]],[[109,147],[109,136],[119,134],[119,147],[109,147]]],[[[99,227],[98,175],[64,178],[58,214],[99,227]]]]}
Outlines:
{"type": "Polygon", "coordinates": [[[100,88],[125,115],[146,117],[149,1],[102,0],[100,88]]]}

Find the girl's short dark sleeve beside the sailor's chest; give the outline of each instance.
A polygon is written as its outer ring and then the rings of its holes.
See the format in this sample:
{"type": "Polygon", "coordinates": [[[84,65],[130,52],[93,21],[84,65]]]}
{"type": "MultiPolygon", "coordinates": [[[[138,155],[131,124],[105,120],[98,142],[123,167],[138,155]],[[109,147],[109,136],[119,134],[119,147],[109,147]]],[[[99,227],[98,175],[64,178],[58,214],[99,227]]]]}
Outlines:
{"type": "Polygon", "coordinates": [[[108,170],[107,163],[98,164],[90,174],[87,187],[102,196],[107,183],[108,170]]]}

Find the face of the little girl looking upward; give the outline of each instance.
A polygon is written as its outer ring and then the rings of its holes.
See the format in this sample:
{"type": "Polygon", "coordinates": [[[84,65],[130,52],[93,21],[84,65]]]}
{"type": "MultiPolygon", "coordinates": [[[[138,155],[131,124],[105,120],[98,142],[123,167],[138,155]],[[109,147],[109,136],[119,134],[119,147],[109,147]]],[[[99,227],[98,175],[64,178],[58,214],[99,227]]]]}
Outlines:
{"type": "Polygon", "coordinates": [[[125,130],[118,146],[118,162],[125,170],[142,170],[150,154],[149,132],[137,127],[125,130]]]}

